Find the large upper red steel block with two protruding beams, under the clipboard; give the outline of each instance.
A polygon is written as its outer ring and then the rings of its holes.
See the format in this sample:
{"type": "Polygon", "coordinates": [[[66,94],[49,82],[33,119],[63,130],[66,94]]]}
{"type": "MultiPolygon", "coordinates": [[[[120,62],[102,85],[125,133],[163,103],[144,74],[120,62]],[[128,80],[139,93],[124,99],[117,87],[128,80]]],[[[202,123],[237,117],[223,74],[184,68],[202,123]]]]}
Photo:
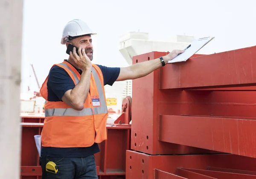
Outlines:
{"type": "MultiPolygon", "coordinates": [[[[133,63],[165,54],[138,55],[133,63]]],[[[148,154],[225,152],[256,156],[253,58],[256,47],[202,55],[134,80],[131,149],[148,154]],[[221,87],[227,91],[220,91],[221,87]],[[239,89],[231,91],[230,87],[239,89]]]]}

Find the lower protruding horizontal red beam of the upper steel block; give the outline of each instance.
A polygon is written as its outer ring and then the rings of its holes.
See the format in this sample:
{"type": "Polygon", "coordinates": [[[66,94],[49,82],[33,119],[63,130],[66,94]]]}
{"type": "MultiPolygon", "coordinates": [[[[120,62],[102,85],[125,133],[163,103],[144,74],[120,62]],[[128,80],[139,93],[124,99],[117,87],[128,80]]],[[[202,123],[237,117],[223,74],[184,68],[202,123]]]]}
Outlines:
{"type": "Polygon", "coordinates": [[[256,158],[255,129],[256,120],[160,115],[159,140],[256,158]]]}

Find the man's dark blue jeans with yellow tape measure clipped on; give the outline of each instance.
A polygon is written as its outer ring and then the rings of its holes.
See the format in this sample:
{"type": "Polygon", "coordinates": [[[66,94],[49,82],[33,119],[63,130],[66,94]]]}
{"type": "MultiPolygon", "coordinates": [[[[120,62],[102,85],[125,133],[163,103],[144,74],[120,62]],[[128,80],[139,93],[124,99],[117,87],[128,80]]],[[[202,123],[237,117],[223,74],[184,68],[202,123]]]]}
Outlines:
{"type": "Polygon", "coordinates": [[[42,179],[98,179],[94,155],[84,158],[41,157],[42,179]],[[47,162],[52,161],[58,172],[45,170],[47,162]]]}

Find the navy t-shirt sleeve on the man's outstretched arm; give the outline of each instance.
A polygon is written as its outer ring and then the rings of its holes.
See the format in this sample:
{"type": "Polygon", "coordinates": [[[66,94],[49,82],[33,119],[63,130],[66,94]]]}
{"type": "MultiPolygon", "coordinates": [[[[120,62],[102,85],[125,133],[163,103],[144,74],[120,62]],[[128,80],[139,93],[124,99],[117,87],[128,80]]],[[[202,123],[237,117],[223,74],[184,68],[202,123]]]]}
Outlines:
{"type": "Polygon", "coordinates": [[[102,71],[102,75],[104,78],[104,86],[107,84],[112,86],[119,76],[120,68],[119,67],[107,67],[107,66],[102,66],[102,65],[97,65],[97,66],[99,66],[99,68],[102,71]]]}

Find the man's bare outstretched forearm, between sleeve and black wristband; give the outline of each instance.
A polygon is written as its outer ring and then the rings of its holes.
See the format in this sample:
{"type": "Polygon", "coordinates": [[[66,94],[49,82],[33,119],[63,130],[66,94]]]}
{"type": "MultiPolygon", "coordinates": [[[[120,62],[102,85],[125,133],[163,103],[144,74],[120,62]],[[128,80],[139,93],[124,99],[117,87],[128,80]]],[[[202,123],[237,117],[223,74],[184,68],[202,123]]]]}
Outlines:
{"type": "Polygon", "coordinates": [[[154,70],[160,68],[162,66],[162,63],[160,61],[160,58],[151,60],[151,61],[143,61],[138,64],[134,64],[130,66],[130,70],[133,72],[134,78],[141,78],[149,73],[153,72],[154,70]]]}

